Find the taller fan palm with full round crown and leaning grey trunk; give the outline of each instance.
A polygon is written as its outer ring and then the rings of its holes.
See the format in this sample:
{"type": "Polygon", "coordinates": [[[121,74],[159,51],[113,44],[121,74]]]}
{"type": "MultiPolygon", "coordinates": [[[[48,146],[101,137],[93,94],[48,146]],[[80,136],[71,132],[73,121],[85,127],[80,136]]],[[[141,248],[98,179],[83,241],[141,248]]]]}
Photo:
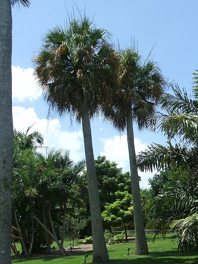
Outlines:
{"type": "Polygon", "coordinates": [[[101,98],[113,91],[116,56],[107,43],[109,34],[93,26],[85,15],[67,28],[55,28],[33,60],[35,76],[49,108],[82,122],[92,219],[93,261],[108,261],[93,156],[90,119],[99,114],[101,98]]]}

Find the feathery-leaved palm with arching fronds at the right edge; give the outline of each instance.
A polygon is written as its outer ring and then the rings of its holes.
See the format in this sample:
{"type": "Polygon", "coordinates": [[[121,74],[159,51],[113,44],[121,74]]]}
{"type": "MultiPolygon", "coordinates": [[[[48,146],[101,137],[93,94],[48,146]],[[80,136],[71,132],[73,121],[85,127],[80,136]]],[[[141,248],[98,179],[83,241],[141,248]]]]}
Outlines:
{"type": "MultiPolygon", "coordinates": [[[[194,77],[195,80],[196,78],[194,77]]],[[[189,253],[198,246],[197,82],[194,81],[194,84],[195,100],[189,99],[185,89],[182,92],[177,85],[172,87],[174,94],[165,94],[162,98],[162,109],[166,110],[167,114],[156,116],[154,124],[156,123],[157,126],[154,129],[159,128],[168,137],[169,144],[166,146],[152,144],[137,156],[141,171],[152,171],[153,168],[158,171],[177,169],[179,176],[174,175],[175,179],[171,186],[166,186],[163,192],[151,201],[150,208],[157,212],[151,222],[156,234],[165,236],[164,231],[168,226],[178,228],[182,233],[178,236],[180,254],[189,253]],[[179,143],[172,145],[172,140],[179,143]]]]}

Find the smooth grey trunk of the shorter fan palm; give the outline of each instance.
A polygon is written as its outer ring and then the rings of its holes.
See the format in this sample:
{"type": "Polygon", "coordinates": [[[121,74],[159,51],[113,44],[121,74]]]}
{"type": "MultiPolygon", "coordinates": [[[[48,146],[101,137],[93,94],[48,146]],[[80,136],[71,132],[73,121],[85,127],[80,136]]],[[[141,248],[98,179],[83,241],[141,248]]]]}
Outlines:
{"type": "Polygon", "coordinates": [[[147,255],[149,254],[146,236],[144,231],[144,221],[142,213],[142,203],[140,198],[140,185],[138,179],[136,152],[134,146],[133,135],[133,119],[131,107],[127,115],[127,141],[129,150],[129,160],[131,168],[131,190],[133,197],[133,212],[134,212],[134,224],[136,233],[135,254],[147,255]]]}

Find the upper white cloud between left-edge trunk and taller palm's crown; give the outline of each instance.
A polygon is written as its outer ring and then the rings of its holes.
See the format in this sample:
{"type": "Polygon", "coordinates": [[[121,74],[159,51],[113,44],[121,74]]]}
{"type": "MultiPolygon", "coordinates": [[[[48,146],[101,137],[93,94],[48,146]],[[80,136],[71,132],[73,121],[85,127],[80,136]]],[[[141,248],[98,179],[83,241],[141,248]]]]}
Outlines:
{"type": "Polygon", "coordinates": [[[19,66],[12,66],[12,99],[13,101],[29,101],[36,100],[41,97],[39,89],[34,77],[33,69],[23,69],[19,66]]]}

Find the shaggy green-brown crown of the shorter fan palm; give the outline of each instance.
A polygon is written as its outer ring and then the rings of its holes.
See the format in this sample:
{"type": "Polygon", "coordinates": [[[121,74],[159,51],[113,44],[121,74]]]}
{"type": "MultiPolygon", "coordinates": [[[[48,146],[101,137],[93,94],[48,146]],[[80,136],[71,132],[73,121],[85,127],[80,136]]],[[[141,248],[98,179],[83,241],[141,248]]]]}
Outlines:
{"type": "Polygon", "coordinates": [[[134,49],[121,50],[118,59],[119,88],[110,109],[103,108],[105,119],[123,131],[132,106],[133,120],[142,129],[148,124],[146,120],[157,110],[165,80],[156,63],[147,61],[142,65],[141,56],[134,49]]]}

